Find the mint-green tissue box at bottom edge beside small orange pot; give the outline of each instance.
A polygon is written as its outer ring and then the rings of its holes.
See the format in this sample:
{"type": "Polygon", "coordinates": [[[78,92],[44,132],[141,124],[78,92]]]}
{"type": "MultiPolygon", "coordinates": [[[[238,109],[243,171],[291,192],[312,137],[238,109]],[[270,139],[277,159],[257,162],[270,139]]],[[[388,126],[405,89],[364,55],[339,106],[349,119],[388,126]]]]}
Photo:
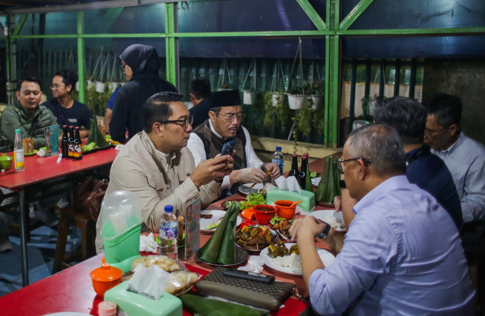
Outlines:
{"type": "Polygon", "coordinates": [[[118,304],[120,311],[128,316],[182,316],[182,301],[163,292],[159,300],[148,299],[126,290],[128,282],[123,282],[106,291],[104,300],[118,304]]]}

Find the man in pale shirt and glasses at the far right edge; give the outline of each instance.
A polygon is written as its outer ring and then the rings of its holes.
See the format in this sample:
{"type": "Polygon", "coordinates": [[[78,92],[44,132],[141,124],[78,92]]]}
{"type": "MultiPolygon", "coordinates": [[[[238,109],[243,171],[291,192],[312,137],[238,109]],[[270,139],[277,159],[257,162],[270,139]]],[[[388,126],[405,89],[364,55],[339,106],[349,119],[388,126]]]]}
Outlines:
{"type": "Polygon", "coordinates": [[[424,143],[443,159],[453,176],[463,220],[485,219],[485,146],[460,129],[458,97],[436,94],[422,102],[428,113],[424,143]]]}

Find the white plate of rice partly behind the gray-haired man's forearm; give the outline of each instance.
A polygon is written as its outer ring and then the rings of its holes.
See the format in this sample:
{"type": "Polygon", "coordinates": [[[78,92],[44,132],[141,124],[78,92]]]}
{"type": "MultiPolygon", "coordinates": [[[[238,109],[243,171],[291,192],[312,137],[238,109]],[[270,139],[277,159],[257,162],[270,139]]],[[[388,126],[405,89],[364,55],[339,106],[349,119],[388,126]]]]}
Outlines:
{"type": "MultiPolygon", "coordinates": [[[[290,249],[293,243],[285,243],[285,246],[290,249]]],[[[325,249],[317,249],[320,259],[322,259],[324,266],[331,266],[335,257],[333,254],[325,249]]],[[[268,255],[268,248],[262,249],[259,256],[264,260],[264,264],[275,270],[281,271],[290,275],[302,275],[302,263],[300,255],[292,253],[291,255],[271,258],[268,255]]]]}

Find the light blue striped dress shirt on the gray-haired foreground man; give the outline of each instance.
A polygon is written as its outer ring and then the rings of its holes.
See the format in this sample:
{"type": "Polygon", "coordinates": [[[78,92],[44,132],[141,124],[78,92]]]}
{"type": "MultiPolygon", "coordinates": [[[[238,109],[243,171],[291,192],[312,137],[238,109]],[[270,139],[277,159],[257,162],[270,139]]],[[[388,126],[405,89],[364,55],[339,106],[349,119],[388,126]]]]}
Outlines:
{"type": "Polygon", "coordinates": [[[474,292],[458,230],[426,191],[396,176],[375,187],[332,266],[315,270],[310,300],[321,315],[473,315],[474,292]]]}

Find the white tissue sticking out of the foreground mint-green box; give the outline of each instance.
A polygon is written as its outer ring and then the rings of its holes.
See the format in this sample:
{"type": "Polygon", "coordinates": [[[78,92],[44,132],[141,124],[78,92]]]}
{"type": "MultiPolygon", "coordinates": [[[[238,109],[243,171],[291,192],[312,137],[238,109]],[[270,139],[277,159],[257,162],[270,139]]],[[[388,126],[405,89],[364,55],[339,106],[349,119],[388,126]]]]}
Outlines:
{"type": "Polygon", "coordinates": [[[160,266],[153,265],[149,268],[141,264],[136,267],[135,273],[129,279],[127,291],[138,293],[149,299],[158,300],[163,294],[163,288],[170,278],[170,273],[160,266]]]}

